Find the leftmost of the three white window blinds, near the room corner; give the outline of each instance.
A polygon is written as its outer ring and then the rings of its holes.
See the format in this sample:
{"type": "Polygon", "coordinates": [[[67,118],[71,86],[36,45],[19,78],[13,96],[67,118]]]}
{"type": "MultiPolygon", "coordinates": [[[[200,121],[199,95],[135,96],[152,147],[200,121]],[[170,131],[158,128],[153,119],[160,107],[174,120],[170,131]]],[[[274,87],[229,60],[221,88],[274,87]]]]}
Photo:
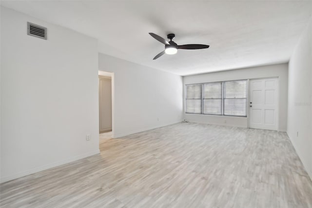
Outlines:
{"type": "Polygon", "coordinates": [[[186,86],[186,113],[201,113],[202,84],[186,86]]]}

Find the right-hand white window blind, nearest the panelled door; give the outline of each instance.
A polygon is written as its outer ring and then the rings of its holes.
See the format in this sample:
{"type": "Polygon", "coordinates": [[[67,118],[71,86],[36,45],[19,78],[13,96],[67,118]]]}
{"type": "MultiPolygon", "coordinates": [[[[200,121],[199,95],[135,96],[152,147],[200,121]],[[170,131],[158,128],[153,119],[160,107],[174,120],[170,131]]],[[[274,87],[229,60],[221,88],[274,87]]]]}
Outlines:
{"type": "Polygon", "coordinates": [[[224,82],[224,115],[246,116],[247,81],[224,82]]]}

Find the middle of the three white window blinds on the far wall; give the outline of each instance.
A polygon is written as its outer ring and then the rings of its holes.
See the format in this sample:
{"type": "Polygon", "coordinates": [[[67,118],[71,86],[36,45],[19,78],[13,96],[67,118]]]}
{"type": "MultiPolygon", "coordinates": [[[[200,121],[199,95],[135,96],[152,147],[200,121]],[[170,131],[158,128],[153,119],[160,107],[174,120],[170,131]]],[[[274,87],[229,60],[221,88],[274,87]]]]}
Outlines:
{"type": "Polygon", "coordinates": [[[222,83],[205,83],[203,114],[222,115],[222,83]]]}

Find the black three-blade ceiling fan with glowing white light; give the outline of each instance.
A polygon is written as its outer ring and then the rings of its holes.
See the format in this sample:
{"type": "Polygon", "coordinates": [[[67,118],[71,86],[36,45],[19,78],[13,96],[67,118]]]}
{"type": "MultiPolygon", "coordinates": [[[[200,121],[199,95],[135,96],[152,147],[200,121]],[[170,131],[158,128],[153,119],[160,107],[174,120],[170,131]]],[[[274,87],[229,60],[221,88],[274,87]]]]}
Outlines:
{"type": "Polygon", "coordinates": [[[153,60],[158,59],[162,55],[166,54],[176,54],[177,49],[203,49],[203,48],[209,48],[209,45],[203,45],[203,44],[186,44],[186,45],[177,45],[175,42],[172,41],[176,37],[175,34],[168,34],[167,38],[170,39],[170,41],[166,41],[165,39],[161,38],[160,36],[156,35],[155,33],[149,33],[153,38],[155,38],[157,41],[165,44],[165,50],[161,51],[154,57],[153,60]]]}

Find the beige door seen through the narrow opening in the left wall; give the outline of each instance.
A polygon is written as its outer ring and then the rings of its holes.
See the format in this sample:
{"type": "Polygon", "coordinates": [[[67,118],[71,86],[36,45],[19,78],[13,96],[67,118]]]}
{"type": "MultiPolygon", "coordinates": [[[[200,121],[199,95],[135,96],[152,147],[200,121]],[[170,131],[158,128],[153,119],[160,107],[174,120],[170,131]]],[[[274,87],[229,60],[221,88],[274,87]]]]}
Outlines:
{"type": "Polygon", "coordinates": [[[99,132],[112,130],[112,79],[99,76],[99,132]]]}

